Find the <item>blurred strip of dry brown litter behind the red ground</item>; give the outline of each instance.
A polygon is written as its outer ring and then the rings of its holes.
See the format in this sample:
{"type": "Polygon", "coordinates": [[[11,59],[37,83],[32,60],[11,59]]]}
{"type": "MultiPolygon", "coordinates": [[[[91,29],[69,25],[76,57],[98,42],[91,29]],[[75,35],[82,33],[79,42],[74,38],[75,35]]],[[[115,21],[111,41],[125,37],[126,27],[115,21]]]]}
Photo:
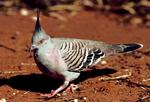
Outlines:
{"type": "MultiPolygon", "coordinates": [[[[3,0],[0,9],[6,15],[14,15],[19,11],[23,16],[26,10],[43,9],[46,15],[51,12],[79,12],[80,10],[100,10],[120,15],[119,21],[132,25],[150,27],[149,0],[3,0]],[[27,9],[23,9],[27,8],[27,9]],[[23,10],[22,10],[23,9],[23,10]]],[[[60,17],[56,17],[60,18],[60,17]]],[[[62,17],[61,17],[62,19],[62,17]]],[[[63,18],[64,19],[64,18],[63,18]]]]}

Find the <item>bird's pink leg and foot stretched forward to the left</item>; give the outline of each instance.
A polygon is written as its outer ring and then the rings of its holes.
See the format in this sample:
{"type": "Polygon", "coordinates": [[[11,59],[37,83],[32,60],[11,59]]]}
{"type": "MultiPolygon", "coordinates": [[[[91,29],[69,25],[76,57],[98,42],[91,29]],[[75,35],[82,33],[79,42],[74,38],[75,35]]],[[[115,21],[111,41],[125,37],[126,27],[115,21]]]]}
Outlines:
{"type": "Polygon", "coordinates": [[[64,90],[68,85],[69,85],[69,81],[65,81],[64,84],[61,85],[56,90],[52,90],[51,93],[49,93],[49,94],[42,94],[41,96],[46,97],[46,98],[52,98],[55,95],[57,95],[60,91],[64,90]]]}

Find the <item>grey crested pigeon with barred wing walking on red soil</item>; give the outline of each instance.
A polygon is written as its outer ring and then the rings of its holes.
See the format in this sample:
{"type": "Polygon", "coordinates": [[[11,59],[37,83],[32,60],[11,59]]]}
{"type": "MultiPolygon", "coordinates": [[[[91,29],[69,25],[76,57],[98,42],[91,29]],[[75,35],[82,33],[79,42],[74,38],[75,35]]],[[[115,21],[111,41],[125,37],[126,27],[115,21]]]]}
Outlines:
{"type": "Polygon", "coordinates": [[[64,81],[56,90],[42,94],[44,97],[52,98],[65,89],[77,88],[72,81],[103,58],[142,47],[140,43],[108,44],[86,39],[51,37],[42,28],[38,11],[30,50],[40,71],[49,77],[64,81]]]}

